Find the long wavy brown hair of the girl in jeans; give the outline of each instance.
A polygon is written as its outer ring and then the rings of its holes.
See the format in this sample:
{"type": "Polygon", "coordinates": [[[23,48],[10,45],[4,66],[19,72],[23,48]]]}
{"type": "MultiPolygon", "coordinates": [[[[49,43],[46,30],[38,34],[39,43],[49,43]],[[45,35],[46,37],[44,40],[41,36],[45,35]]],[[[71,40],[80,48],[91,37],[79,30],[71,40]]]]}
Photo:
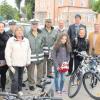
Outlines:
{"type": "Polygon", "coordinates": [[[56,41],[55,44],[54,44],[54,49],[55,49],[56,51],[59,51],[59,48],[60,48],[60,46],[61,46],[61,44],[62,44],[62,43],[61,43],[61,39],[62,39],[63,36],[66,36],[66,37],[67,37],[67,41],[66,41],[66,43],[65,43],[66,51],[67,51],[67,52],[71,52],[71,43],[70,43],[70,39],[69,39],[69,36],[68,36],[67,33],[62,33],[62,34],[58,37],[57,41],[56,41]]]}

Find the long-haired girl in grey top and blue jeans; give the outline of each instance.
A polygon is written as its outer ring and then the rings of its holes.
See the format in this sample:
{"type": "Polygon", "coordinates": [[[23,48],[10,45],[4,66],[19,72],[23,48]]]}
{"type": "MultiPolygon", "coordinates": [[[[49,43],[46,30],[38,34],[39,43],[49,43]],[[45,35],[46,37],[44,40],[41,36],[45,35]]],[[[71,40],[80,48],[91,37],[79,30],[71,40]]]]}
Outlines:
{"type": "Polygon", "coordinates": [[[52,59],[55,69],[55,89],[56,92],[62,93],[64,85],[64,73],[59,71],[59,68],[64,62],[69,63],[71,45],[67,34],[61,34],[54,45],[52,59]],[[60,75],[60,77],[59,77],[60,75]],[[60,81],[59,81],[60,78],[60,81]]]}

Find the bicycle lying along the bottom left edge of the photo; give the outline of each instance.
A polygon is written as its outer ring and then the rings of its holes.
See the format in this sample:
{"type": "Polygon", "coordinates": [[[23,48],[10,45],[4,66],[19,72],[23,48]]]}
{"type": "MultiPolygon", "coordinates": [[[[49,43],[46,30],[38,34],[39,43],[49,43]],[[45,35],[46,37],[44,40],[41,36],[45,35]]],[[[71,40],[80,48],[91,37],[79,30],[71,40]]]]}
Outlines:
{"type": "Polygon", "coordinates": [[[48,96],[41,97],[32,95],[19,96],[17,94],[6,93],[6,92],[0,92],[0,96],[2,96],[2,99],[0,100],[62,100],[59,97],[48,97],[48,96]]]}

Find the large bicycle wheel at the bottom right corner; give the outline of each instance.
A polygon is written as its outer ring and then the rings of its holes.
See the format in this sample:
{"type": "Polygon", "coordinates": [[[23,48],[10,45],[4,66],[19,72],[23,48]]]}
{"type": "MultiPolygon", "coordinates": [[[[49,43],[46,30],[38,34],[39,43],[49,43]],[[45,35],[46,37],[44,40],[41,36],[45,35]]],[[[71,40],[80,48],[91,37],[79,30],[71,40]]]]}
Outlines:
{"type": "Polygon", "coordinates": [[[100,100],[100,81],[96,74],[87,72],[83,77],[83,85],[86,92],[94,99],[100,100]]]}

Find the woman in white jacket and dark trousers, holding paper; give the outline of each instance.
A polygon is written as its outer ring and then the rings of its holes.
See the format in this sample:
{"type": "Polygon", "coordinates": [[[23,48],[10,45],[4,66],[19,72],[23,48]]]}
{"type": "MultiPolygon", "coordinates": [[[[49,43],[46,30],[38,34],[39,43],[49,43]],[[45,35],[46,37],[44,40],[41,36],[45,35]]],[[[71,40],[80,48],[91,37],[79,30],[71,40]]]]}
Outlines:
{"type": "Polygon", "coordinates": [[[30,64],[31,49],[28,39],[24,37],[22,26],[17,26],[15,36],[6,45],[5,58],[10,69],[11,93],[22,95],[22,78],[25,66],[30,64]]]}

